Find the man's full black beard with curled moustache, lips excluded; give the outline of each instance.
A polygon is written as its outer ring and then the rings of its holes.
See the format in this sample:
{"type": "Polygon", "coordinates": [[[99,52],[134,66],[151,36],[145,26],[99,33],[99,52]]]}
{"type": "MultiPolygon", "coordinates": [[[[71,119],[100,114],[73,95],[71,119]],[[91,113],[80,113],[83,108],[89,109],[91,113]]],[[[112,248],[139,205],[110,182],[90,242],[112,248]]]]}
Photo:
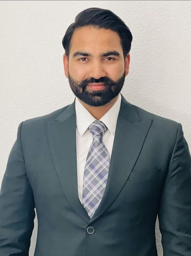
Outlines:
{"type": "Polygon", "coordinates": [[[81,101],[89,106],[98,107],[109,103],[120,93],[125,81],[125,72],[117,82],[114,82],[113,80],[105,76],[99,79],[85,79],[78,85],[69,75],[69,73],[68,81],[72,92],[76,97],[78,97],[81,101]],[[101,90],[90,91],[86,89],[88,83],[104,83],[105,86],[101,90]]]}

